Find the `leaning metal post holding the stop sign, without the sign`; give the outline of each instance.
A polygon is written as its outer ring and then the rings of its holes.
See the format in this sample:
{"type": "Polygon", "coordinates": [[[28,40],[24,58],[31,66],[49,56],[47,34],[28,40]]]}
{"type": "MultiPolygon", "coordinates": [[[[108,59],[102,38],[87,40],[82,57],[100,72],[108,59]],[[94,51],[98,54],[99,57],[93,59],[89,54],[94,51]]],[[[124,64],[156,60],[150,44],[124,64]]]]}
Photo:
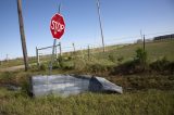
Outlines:
{"type": "MultiPolygon", "coordinates": [[[[61,12],[61,3],[59,4],[59,13],[61,12]]],[[[50,75],[52,73],[52,63],[54,62],[54,50],[55,50],[55,44],[57,44],[57,39],[53,40],[53,46],[52,46],[52,56],[51,56],[51,63],[50,63],[50,75]]]]}

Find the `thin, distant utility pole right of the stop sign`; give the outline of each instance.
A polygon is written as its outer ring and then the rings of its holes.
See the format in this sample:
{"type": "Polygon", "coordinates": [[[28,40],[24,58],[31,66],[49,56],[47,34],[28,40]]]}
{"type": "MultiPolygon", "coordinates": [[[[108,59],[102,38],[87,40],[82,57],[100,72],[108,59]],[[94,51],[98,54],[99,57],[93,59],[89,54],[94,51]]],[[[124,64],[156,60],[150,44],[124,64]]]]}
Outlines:
{"type": "Polygon", "coordinates": [[[103,48],[103,52],[104,52],[105,51],[104,50],[104,37],[103,37],[102,24],[101,24],[101,17],[100,17],[100,3],[99,3],[99,0],[97,0],[97,8],[98,8],[98,15],[99,15],[100,30],[101,30],[102,48],[103,48]]]}

